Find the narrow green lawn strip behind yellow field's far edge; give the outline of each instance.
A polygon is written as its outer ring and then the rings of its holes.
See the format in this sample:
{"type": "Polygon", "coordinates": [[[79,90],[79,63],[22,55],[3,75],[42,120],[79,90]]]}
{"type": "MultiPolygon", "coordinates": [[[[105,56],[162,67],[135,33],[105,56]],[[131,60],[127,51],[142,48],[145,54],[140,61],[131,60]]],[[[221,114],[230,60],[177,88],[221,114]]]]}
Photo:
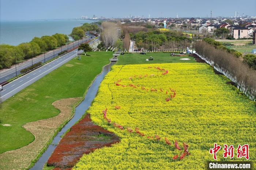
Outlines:
{"type": "Polygon", "coordinates": [[[117,65],[127,64],[150,64],[150,63],[187,63],[196,62],[194,57],[188,55],[184,57],[170,56],[170,53],[147,53],[142,55],[140,53],[125,53],[118,57],[117,65]],[[153,57],[154,60],[146,61],[147,58],[153,57]],[[189,58],[190,60],[181,60],[182,58],[189,58]]]}

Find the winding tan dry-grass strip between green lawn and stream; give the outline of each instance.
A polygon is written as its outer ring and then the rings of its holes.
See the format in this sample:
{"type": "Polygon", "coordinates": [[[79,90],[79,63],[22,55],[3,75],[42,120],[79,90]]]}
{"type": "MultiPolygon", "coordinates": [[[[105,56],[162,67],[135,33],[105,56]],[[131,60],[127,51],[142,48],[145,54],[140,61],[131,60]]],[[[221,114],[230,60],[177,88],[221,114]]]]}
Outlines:
{"type": "Polygon", "coordinates": [[[39,152],[52,139],[54,132],[74,115],[72,108],[78,104],[81,97],[65,98],[54,101],[52,105],[60,110],[60,114],[49,119],[38,120],[23,125],[35,136],[35,140],[27,146],[0,154],[0,169],[27,169],[39,152]]]}

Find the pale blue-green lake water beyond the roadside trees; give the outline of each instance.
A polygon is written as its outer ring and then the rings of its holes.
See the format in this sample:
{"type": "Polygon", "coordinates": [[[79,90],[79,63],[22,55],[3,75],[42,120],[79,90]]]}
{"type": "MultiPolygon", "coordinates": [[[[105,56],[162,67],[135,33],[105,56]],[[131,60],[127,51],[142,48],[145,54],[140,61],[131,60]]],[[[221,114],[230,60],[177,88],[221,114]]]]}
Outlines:
{"type": "Polygon", "coordinates": [[[72,29],[92,20],[1,20],[0,44],[19,45],[30,42],[35,36],[70,34],[72,29]]]}

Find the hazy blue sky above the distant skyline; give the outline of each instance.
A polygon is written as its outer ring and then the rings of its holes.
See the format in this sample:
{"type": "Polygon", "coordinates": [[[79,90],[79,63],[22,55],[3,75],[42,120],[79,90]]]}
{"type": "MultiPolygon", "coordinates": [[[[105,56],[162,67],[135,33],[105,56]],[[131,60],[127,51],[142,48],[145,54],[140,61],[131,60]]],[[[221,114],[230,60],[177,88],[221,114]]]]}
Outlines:
{"type": "Polygon", "coordinates": [[[92,17],[256,16],[256,0],[0,0],[0,20],[92,17]]]}

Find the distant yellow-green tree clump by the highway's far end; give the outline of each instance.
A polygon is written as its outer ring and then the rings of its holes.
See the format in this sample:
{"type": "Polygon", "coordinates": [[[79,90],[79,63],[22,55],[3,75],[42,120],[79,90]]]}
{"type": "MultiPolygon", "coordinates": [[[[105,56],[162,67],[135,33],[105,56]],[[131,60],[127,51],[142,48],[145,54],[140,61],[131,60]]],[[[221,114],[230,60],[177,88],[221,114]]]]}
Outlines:
{"type": "Polygon", "coordinates": [[[79,27],[74,27],[70,36],[72,36],[72,38],[74,38],[74,40],[79,40],[82,39],[84,37],[84,34],[86,31],[97,31],[100,32],[100,28],[98,28],[98,25],[100,23],[84,23],[82,26],[79,27]]]}

